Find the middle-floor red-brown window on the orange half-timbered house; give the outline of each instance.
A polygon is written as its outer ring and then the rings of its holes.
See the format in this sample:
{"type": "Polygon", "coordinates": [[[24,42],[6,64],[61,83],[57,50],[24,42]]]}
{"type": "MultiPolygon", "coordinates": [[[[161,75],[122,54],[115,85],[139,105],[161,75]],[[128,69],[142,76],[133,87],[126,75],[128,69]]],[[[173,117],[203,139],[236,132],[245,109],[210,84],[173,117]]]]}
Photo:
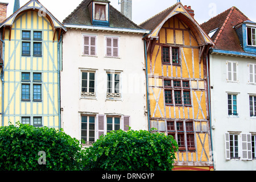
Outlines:
{"type": "Polygon", "coordinates": [[[164,80],[164,96],[166,105],[191,106],[189,81],[164,80]]]}

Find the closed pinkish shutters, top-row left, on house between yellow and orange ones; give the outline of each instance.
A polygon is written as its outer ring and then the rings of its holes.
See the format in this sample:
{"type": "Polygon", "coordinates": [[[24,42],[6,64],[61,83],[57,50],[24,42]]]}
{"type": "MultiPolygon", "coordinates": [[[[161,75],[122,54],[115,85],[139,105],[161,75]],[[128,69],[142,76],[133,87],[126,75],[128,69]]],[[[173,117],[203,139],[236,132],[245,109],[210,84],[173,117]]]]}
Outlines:
{"type": "Polygon", "coordinates": [[[96,36],[84,35],[84,55],[96,56],[96,36]]]}

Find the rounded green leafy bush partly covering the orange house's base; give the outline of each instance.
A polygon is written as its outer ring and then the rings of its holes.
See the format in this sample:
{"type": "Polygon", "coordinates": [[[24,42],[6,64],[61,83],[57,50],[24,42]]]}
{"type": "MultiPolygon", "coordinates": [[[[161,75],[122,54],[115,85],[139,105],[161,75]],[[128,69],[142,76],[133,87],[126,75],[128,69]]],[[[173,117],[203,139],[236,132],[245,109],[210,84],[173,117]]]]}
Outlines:
{"type": "Polygon", "coordinates": [[[100,137],[87,149],[88,168],[110,171],[170,171],[176,140],[163,133],[118,130],[100,137]]]}

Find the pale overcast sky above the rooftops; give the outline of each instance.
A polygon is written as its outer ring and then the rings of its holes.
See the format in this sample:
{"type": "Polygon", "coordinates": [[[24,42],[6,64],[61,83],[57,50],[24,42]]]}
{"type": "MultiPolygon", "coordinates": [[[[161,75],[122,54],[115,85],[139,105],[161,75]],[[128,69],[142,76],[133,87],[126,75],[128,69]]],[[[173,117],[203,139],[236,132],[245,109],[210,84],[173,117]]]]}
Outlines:
{"type": "MultiPolygon", "coordinates": [[[[7,16],[13,14],[14,0],[0,0],[1,2],[8,2],[7,16]]],[[[20,0],[20,6],[23,6],[29,0],[20,0]]],[[[118,1],[123,0],[109,0],[110,5],[114,6],[115,9],[120,10],[118,1]]],[[[39,0],[40,3],[48,11],[50,11],[60,22],[62,22],[82,0],[39,0]]],[[[140,24],[151,18],[155,14],[160,13],[168,7],[174,5],[176,0],[133,0],[133,22],[140,24]]],[[[223,11],[229,9],[232,6],[236,6],[243,14],[245,14],[250,20],[256,22],[256,1],[255,0],[181,0],[184,6],[191,6],[195,10],[195,19],[201,24],[216,16],[223,11]]]]}

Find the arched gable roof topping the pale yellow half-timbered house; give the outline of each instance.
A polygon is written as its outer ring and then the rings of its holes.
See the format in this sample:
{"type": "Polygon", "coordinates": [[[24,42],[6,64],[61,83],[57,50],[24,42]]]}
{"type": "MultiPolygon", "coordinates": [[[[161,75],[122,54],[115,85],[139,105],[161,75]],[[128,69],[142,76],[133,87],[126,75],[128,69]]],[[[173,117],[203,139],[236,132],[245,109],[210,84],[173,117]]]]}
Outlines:
{"type": "Polygon", "coordinates": [[[42,13],[42,15],[44,15],[45,13],[52,24],[53,30],[55,30],[56,28],[62,28],[64,31],[67,31],[63,24],[61,24],[59,20],[57,20],[51,13],[49,13],[49,11],[38,0],[28,1],[24,6],[20,7],[20,9],[15,11],[15,13],[6,18],[0,25],[0,28],[3,26],[12,26],[16,16],[18,16],[20,13],[24,11],[30,10],[39,11],[39,13],[42,13]]]}

